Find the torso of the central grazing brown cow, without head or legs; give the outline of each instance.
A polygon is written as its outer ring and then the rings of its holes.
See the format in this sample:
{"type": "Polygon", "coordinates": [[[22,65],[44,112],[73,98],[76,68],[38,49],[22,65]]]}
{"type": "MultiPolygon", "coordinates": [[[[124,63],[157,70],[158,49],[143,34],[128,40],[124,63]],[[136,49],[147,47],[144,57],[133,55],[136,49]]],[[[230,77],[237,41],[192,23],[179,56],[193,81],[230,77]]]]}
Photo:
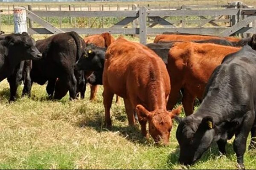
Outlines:
{"type": "Polygon", "coordinates": [[[147,85],[162,81],[166,96],[170,91],[170,80],[162,59],[149,48],[119,38],[106,51],[103,84],[121,97],[137,96],[145,100],[147,85]]]}

